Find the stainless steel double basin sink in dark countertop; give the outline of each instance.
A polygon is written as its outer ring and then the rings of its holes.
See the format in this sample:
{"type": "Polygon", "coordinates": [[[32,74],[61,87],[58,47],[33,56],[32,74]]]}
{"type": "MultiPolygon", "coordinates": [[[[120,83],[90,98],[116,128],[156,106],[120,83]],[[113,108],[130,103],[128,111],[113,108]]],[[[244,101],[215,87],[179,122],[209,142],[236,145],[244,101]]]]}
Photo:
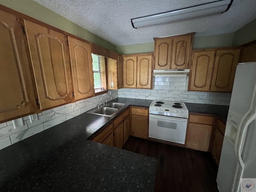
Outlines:
{"type": "Polygon", "coordinates": [[[94,108],[87,113],[102,115],[107,117],[112,117],[117,114],[122,108],[126,107],[128,104],[124,103],[109,103],[105,106],[101,106],[99,108],[94,108]]]}

